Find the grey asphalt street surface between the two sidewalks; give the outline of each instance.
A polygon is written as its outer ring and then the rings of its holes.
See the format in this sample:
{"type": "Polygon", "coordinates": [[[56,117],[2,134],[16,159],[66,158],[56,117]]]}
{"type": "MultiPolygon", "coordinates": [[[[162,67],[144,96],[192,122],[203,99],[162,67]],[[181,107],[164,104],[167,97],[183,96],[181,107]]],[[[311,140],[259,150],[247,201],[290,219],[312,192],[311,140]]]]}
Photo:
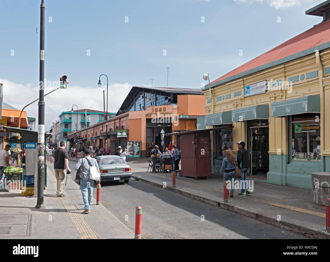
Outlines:
{"type": "MultiPolygon", "coordinates": [[[[69,161],[71,177],[75,175],[75,164],[69,161]]],[[[127,184],[102,182],[101,204],[133,232],[135,207],[142,206],[144,239],[307,239],[135,179],[130,179],[127,184]],[[159,195],[150,195],[153,193],[159,195]]]]}

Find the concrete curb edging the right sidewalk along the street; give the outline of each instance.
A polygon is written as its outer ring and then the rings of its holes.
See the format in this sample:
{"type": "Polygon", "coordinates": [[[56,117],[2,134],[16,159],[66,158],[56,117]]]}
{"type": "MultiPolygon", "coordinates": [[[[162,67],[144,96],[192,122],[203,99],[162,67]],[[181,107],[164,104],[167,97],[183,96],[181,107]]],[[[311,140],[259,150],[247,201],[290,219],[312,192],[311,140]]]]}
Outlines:
{"type": "MultiPolygon", "coordinates": [[[[133,175],[133,174],[132,174],[132,178],[134,178],[135,180],[138,180],[138,181],[146,182],[146,183],[148,183],[150,185],[153,185],[153,186],[163,187],[163,184],[152,182],[150,180],[146,180],[145,178],[142,178],[142,177],[139,177],[139,176],[136,176],[136,175],[133,175]]],[[[179,193],[179,194],[184,195],[186,197],[190,197],[192,199],[204,202],[206,204],[210,204],[210,205],[217,206],[217,207],[220,207],[220,208],[223,208],[223,209],[227,209],[229,211],[233,211],[233,212],[236,212],[238,214],[246,215],[248,217],[254,218],[254,219],[259,220],[261,222],[268,223],[268,224],[283,228],[285,230],[290,230],[290,231],[293,231],[295,233],[299,233],[299,234],[304,235],[306,237],[310,237],[310,238],[313,238],[313,239],[330,239],[330,234],[325,231],[325,228],[324,228],[324,231],[323,230],[322,231],[317,231],[317,230],[307,228],[307,227],[300,227],[300,226],[297,226],[296,224],[293,224],[291,222],[277,221],[277,219],[275,219],[271,216],[260,214],[260,213],[257,213],[257,212],[253,212],[253,211],[250,211],[248,209],[241,208],[241,207],[236,207],[236,206],[231,205],[229,203],[224,203],[224,202],[219,202],[219,201],[216,201],[216,200],[213,200],[213,199],[204,198],[204,197],[189,193],[187,191],[180,190],[176,187],[173,188],[173,187],[167,186],[166,189],[172,190],[173,192],[176,192],[176,193],[179,193]]]]}

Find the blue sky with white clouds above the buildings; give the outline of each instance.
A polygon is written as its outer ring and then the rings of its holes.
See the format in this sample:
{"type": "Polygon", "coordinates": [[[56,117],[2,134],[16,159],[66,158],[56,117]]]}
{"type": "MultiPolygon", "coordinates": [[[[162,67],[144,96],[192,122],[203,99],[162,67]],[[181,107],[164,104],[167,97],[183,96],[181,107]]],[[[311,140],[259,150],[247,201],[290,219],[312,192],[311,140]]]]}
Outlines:
{"type": "MultiPolygon", "coordinates": [[[[101,74],[108,112],[132,86],[166,87],[167,70],[168,87],[200,89],[320,23],[305,11],[321,2],[45,0],[45,94],[69,82],[45,96],[45,131],[73,104],[103,110],[101,74]]],[[[0,1],[3,101],[19,109],[39,97],[40,3],[0,1]]],[[[38,102],[25,110],[38,120],[38,102]]]]}

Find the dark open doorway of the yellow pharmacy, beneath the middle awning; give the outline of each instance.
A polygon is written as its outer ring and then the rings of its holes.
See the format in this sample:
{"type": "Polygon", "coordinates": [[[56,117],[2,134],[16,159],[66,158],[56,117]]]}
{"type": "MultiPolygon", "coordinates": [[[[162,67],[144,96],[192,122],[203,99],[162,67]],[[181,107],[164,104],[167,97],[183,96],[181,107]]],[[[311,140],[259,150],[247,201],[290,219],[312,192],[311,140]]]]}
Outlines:
{"type": "Polygon", "coordinates": [[[269,171],[269,126],[268,120],[250,122],[248,126],[248,151],[250,153],[249,175],[266,180],[269,171]],[[257,124],[257,125],[256,125],[257,124]]]}

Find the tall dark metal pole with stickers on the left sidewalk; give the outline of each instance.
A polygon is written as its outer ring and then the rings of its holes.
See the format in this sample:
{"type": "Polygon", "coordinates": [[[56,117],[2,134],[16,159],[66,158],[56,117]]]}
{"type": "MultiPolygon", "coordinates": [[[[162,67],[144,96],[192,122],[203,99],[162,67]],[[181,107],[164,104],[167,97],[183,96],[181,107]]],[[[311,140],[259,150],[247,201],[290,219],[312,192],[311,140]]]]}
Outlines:
{"type": "Polygon", "coordinates": [[[38,197],[36,208],[44,205],[44,165],[45,165],[45,1],[40,5],[40,62],[39,62],[39,102],[38,102],[38,197]]]}

